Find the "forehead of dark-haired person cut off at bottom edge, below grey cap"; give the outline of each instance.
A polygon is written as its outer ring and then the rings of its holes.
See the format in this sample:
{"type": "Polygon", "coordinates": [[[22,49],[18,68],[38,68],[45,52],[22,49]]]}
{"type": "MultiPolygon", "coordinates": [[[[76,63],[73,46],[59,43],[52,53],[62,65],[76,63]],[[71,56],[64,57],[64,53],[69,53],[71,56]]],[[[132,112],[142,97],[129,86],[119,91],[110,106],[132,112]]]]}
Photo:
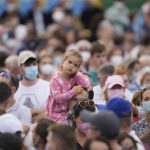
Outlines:
{"type": "Polygon", "coordinates": [[[90,150],[109,150],[109,147],[100,141],[94,141],[90,145],[90,150]]]}

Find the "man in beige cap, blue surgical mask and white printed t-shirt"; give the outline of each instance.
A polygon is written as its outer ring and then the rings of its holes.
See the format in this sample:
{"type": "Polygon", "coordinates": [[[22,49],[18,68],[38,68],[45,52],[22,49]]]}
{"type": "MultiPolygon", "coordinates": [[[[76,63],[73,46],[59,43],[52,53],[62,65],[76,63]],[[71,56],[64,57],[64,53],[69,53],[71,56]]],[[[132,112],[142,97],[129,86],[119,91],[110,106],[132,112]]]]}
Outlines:
{"type": "Polygon", "coordinates": [[[46,100],[49,95],[49,82],[38,78],[38,64],[35,54],[23,51],[18,56],[22,80],[14,98],[31,109],[32,121],[45,115],[46,100]],[[41,90],[43,89],[43,90],[41,90]]]}

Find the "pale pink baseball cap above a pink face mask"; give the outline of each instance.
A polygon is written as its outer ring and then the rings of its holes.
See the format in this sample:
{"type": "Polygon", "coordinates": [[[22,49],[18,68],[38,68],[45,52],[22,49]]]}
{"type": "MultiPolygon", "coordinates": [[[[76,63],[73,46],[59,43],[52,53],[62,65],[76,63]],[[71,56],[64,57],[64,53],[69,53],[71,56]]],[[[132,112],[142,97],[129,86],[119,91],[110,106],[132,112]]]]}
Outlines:
{"type": "Polygon", "coordinates": [[[112,88],[114,85],[125,87],[124,80],[120,75],[109,76],[105,82],[105,88],[112,88]]]}

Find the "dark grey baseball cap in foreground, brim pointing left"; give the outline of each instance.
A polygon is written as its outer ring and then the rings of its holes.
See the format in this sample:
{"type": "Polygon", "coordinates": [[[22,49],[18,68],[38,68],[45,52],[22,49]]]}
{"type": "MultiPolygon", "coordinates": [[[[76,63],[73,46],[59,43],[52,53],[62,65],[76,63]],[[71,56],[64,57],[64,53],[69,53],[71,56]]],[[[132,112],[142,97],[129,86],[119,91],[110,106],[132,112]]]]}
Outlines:
{"type": "Polygon", "coordinates": [[[102,136],[107,139],[114,139],[119,133],[120,122],[118,117],[108,110],[104,110],[97,113],[92,113],[83,110],[80,113],[81,120],[84,122],[89,122],[95,127],[97,131],[100,131],[102,136]]]}

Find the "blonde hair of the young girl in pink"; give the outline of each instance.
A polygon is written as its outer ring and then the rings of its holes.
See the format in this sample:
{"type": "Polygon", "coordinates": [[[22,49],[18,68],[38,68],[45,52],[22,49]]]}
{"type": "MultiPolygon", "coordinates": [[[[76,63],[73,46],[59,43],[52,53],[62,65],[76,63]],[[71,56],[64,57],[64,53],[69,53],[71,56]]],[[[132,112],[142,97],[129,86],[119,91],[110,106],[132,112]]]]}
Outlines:
{"type": "Polygon", "coordinates": [[[63,57],[63,59],[62,59],[62,62],[64,62],[65,60],[67,60],[70,56],[76,56],[76,57],[78,57],[78,58],[80,59],[81,63],[82,63],[82,56],[81,56],[81,54],[80,54],[77,50],[75,50],[75,49],[68,50],[68,51],[65,53],[65,55],[64,55],[64,57],[63,57]]]}

